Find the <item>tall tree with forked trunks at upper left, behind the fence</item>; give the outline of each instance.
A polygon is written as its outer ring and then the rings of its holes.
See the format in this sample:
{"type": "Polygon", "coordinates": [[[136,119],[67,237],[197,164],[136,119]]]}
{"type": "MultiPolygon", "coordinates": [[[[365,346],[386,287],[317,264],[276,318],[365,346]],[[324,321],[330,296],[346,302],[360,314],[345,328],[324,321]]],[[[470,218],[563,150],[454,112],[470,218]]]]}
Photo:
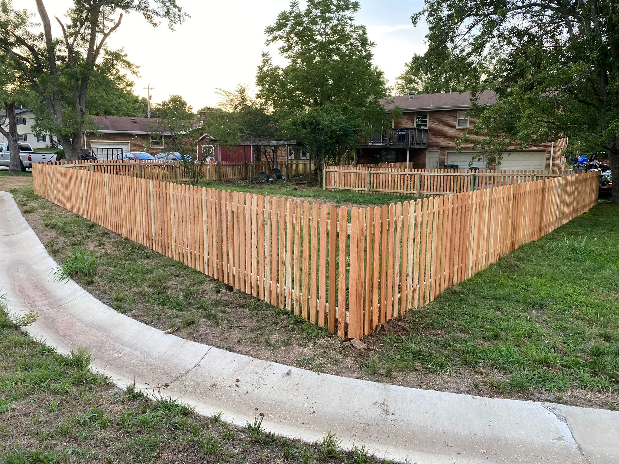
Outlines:
{"type": "Polygon", "coordinates": [[[30,23],[32,15],[15,11],[10,0],[2,0],[0,49],[40,95],[49,116],[43,118],[49,123],[45,129],[58,135],[67,159],[77,160],[82,134],[96,129],[87,111],[93,73],[100,66],[123,64],[122,53],[106,46],[120,27],[123,13],[139,12],[154,26],[158,19],[165,19],[169,27],[183,22],[186,14],[176,0],[74,0],[66,14],[67,24],[56,17],[63,34],[54,38],[43,0],[36,3],[42,33],[30,23]],[[71,89],[69,95],[66,88],[71,89]],[[71,105],[67,105],[69,99],[71,105]]]}

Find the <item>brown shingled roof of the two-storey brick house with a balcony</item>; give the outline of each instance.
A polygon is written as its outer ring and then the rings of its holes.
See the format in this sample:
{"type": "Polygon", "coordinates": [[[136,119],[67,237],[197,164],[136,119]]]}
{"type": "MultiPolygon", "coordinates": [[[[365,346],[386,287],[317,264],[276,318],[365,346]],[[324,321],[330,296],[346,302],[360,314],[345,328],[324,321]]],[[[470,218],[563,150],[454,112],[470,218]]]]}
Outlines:
{"type": "MultiPolygon", "coordinates": [[[[477,98],[478,105],[494,105],[496,95],[491,90],[484,90],[477,98]]],[[[431,110],[467,110],[472,108],[470,92],[423,93],[410,98],[409,95],[394,97],[392,103],[384,105],[387,111],[399,106],[404,111],[431,110]]]]}

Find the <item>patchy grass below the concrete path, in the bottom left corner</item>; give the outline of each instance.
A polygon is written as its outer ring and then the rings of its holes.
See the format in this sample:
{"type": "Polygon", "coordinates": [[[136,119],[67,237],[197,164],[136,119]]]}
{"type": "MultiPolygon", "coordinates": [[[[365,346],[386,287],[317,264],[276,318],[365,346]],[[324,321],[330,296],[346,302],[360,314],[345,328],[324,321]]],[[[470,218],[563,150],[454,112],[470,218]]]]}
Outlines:
{"type": "Polygon", "coordinates": [[[305,444],[221,414],[151,401],[90,372],[90,354],[55,353],[22,333],[0,301],[0,463],[367,463],[365,447],[344,452],[337,437],[305,444]]]}

